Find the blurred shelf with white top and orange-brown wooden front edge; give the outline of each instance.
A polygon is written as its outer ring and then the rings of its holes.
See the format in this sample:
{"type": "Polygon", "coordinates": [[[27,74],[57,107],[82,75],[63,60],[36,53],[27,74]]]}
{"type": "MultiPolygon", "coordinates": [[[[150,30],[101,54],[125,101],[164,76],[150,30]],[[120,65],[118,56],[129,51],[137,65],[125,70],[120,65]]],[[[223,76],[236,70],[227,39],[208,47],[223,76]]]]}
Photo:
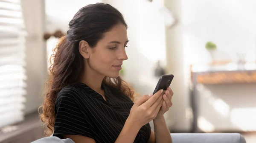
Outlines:
{"type": "Polygon", "coordinates": [[[194,84],[256,83],[256,63],[192,65],[191,78],[194,84]]]}

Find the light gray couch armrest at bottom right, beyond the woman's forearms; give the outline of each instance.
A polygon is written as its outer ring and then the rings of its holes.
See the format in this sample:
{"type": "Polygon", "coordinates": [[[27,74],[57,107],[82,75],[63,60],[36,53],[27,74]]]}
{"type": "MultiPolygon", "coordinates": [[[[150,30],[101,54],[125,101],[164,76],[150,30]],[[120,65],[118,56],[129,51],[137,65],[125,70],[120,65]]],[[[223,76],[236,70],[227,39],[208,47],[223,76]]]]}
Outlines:
{"type": "Polygon", "coordinates": [[[239,133],[171,133],[173,143],[246,143],[239,133]]]}

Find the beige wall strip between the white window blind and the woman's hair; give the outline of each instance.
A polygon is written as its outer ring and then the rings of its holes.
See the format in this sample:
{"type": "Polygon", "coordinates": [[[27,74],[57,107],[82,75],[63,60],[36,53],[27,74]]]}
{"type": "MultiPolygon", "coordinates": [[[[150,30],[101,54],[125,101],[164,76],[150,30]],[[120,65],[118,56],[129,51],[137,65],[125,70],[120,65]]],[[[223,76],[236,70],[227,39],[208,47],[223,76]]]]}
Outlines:
{"type": "Polygon", "coordinates": [[[26,75],[27,94],[24,112],[37,111],[42,103],[44,81],[46,79],[47,60],[44,41],[44,0],[21,0],[23,17],[28,37],[26,38],[26,75]]]}

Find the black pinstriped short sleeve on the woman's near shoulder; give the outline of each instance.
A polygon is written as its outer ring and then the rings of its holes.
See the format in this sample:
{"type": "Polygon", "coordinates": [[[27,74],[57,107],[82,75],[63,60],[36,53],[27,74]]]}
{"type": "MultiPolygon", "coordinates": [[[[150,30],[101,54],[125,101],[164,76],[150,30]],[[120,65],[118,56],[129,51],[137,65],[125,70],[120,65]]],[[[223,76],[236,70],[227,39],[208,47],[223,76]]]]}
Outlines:
{"type": "Polygon", "coordinates": [[[79,109],[76,89],[64,87],[55,102],[55,123],[53,136],[63,139],[63,135],[93,137],[87,116],[79,109]]]}

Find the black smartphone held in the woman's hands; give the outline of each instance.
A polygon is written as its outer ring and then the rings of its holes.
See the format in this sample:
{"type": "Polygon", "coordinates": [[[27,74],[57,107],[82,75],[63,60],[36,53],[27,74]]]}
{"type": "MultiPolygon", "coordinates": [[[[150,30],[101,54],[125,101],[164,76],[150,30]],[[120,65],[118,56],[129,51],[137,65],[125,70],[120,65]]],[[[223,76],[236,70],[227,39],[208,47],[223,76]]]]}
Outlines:
{"type": "Polygon", "coordinates": [[[172,83],[172,79],[173,79],[173,74],[169,74],[169,75],[162,75],[157,83],[157,86],[153,92],[153,95],[155,93],[157,93],[158,90],[167,90],[167,88],[170,86],[170,84],[172,83]]]}

